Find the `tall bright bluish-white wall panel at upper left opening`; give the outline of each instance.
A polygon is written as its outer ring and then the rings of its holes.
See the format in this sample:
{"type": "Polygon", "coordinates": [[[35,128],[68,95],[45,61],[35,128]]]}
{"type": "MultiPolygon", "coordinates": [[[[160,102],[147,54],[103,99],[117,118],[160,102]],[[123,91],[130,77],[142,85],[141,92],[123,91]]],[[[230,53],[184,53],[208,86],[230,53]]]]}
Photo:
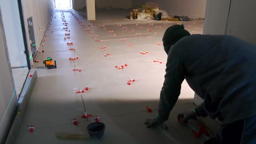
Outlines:
{"type": "Polygon", "coordinates": [[[22,37],[18,1],[0,1],[5,38],[10,53],[11,67],[26,67],[24,41],[22,37]]]}

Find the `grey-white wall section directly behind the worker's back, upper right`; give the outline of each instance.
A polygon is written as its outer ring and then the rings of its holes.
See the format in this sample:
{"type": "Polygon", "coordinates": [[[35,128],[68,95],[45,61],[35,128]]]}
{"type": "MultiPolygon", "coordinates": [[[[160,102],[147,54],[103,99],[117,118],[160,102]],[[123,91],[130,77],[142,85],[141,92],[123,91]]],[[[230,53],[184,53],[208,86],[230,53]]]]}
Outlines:
{"type": "Polygon", "coordinates": [[[255,5],[254,0],[207,0],[203,34],[234,35],[256,45],[255,5]]]}

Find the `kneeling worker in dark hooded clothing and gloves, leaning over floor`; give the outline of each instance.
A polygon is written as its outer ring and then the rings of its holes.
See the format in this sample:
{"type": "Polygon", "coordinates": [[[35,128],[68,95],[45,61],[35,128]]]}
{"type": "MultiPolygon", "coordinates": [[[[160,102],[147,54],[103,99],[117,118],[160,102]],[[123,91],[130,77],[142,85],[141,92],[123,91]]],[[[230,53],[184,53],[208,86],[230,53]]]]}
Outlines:
{"type": "Polygon", "coordinates": [[[148,119],[165,128],[184,79],[204,101],[180,113],[183,122],[197,116],[218,118],[222,126],[205,143],[256,143],[256,47],[229,35],[190,35],[183,25],[162,38],[168,55],[158,115],[148,119]]]}

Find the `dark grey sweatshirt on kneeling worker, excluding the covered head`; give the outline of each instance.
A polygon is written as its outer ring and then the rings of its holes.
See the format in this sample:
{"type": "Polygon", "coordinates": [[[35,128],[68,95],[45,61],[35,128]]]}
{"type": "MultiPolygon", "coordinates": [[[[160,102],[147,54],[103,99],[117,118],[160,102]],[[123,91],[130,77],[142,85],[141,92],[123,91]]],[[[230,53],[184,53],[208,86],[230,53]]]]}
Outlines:
{"type": "Polygon", "coordinates": [[[228,35],[189,35],[170,47],[158,116],[168,119],[184,79],[201,115],[232,123],[256,114],[256,47],[228,35]]]}

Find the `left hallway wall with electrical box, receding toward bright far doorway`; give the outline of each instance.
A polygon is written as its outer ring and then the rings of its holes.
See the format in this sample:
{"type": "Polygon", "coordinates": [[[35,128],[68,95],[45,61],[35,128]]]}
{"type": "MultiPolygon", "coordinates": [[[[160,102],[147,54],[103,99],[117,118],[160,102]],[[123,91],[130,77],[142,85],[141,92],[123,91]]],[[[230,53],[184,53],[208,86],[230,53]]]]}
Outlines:
{"type": "Polygon", "coordinates": [[[28,37],[28,23],[27,19],[33,18],[34,35],[36,38],[37,50],[44,37],[45,29],[54,10],[53,0],[26,0],[22,1],[25,28],[27,34],[28,49],[31,50],[30,41],[28,37]]]}

